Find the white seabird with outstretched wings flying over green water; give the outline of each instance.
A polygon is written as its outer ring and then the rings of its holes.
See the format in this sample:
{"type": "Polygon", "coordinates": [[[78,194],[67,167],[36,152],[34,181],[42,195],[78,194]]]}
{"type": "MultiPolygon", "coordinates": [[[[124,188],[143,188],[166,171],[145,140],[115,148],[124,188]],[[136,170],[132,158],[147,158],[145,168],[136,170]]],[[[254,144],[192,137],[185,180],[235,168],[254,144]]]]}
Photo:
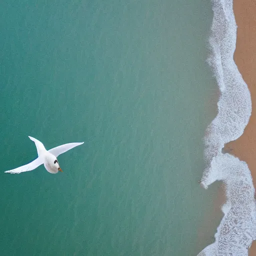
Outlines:
{"type": "Polygon", "coordinates": [[[28,136],[32,141],[34,141],[38,157],[34,159],[33,161],[22,165],[20,167],[17,167],[12,170],[6,170],[4,172],[8,173],[20,173],[28,170],[33,170],[39,165],[43,164],[45,169],[50,173],[57,173],[58,171],[61,171],[61,168],[59,167],[59,163],[57,160],[57,156],[66,152],[67,150],[83,144],[83,142],[73,142],[73,143],[67,143],[60,146],[53,147],[49,150],[46,150],[43,143],[39,141],[36,138],[28,136]]]}

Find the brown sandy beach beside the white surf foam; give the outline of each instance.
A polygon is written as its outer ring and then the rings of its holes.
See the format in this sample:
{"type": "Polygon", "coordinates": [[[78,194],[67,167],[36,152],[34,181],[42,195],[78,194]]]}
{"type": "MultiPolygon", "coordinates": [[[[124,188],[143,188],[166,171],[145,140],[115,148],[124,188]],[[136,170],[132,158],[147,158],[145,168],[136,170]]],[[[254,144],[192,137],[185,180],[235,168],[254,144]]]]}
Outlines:
{"type": "MultiPolygon", "coordinates": [[[[225,149],[246,161],[256,185],[256,4],[254,0],[233,1],[237,24],[234,61],[251,93],[252,113],[243,134],[225,145],[225,149]]],[[[249,255],[256,255],[253,242],[249,255]]]]}

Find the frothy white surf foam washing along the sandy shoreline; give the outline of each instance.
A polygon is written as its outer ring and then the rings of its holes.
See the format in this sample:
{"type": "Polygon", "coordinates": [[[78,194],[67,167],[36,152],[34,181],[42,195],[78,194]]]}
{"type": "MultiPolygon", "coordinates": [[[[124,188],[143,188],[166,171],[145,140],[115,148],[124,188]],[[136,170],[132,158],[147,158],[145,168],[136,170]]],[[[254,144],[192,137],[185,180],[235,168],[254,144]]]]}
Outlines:
{"type": "Polygon", "coordinates": [[[248,123],[251,113],[250,93],[234,61],[236,24],[232,0],[212,0],[213,21],[208,63],[220,90],[218,113],[207,128],[204,156],[207,168],[202,185],[207,188],[215,180],[225,184],[224,217],[215,233],[215,242],[198,256],[248,255],[248,247],[256,239],[256,207],[254,187],[245,162],[222,153],[226,142],[235,140],[248,123]]]}

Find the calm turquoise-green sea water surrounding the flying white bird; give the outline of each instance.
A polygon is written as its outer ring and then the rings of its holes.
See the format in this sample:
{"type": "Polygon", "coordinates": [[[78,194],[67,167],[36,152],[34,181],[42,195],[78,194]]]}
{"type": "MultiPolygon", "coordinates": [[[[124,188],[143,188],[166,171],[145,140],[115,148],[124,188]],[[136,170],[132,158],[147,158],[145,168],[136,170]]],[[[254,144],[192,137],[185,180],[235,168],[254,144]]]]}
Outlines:
{"type": "Polygon", "coordinates": [[[210,2],[1,5],[1,255],[196,255],[210,2]],[[4,173],[36,157],[28,135],[84,144],[63,173],[4,173]]]}

